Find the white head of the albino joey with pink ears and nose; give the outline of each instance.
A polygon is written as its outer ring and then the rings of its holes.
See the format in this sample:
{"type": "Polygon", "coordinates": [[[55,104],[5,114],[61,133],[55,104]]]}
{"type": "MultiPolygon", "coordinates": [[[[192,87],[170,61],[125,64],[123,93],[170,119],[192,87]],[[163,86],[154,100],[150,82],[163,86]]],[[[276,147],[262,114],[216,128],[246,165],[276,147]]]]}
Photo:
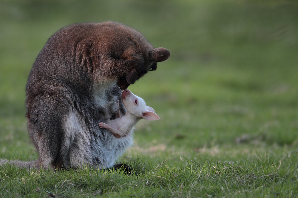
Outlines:
{"type": "Polygon", "coordinates": [[[121,98],[123,105],[130,114],[145,118],[146,120],[159,120],[159,116],[155,113],[154,109],[146,106],[142,98],[134,95],[128,89],[122,92],[121,98]]]}

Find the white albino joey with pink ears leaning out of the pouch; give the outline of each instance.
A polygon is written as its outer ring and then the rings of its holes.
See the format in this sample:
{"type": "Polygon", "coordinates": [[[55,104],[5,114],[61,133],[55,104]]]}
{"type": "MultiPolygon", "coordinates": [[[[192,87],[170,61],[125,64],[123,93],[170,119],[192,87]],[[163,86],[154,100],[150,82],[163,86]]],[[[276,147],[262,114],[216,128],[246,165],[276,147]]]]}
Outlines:
{"type": "Polygon", "coordinates": [[[145,101],[134,95],[128,89],[121,94],[122,103],[127,110],[125,116],[115,120],[109,120],[107,123],[100,122],[100,128],[108,129],[117,138],[127,136],[131,133],[132,128],[137,122],[145,118],[146,120],[159,120],[158,114],[155,113],[152,107],[146,106],[145,101]]]}

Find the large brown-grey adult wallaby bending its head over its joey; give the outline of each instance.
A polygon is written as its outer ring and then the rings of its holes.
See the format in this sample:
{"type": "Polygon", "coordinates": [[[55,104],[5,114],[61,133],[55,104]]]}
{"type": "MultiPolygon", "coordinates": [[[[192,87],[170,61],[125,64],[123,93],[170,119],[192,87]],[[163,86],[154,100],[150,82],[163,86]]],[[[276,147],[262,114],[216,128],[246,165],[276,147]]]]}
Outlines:
{"type": "Polygon", "coordinates": [[[125,115],[121,89],[169,56],[167,49],[153,48],[140,32],[116,22],[78,23],[56,32],[38,54],[26,86],[28,130],[39,157],[10,164],[113,167],[132,144],[132,133],[116,138],[98,123],[125,115]]]}

